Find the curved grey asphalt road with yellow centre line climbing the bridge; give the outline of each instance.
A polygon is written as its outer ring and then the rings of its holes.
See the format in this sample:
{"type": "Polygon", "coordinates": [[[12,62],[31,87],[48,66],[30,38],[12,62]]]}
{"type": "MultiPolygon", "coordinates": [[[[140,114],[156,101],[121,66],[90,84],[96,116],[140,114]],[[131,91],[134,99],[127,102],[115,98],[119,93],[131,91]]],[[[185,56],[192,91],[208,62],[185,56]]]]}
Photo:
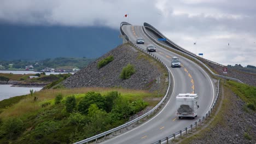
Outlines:
{"type": "Polygon", "coordinates": [[[154,55],[158,56],[171,70],[173,91],[165,107],[146,123],[113,137],[102,143],[153,143],[181,130],[202,117],[213,103],[215,97],[214,84],[210,76],[197,64],[187,58],[168,51],[150,40],[143,32],[142,26],[123,26],[123,31],[131,41],[136,43],[138,37],[145,39],[145,44],[139,46],[146,50],[148,44],[156,46],[154,55]],[[177,56],[182,63],[181,68],[171,68],[171,58],[177,56]],[[178,93],[197,93],[199,95],[199,110],[195,119],[178,119],[175,116],[175,97],[178,93]]]}

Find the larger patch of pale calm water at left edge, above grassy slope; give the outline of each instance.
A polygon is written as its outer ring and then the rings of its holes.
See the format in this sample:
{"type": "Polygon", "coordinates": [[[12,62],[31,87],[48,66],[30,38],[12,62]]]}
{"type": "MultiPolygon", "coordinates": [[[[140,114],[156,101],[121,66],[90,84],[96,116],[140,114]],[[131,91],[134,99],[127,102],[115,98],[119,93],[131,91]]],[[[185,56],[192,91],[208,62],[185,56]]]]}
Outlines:
{"type": "Polygon", "coordinates": [[[20,95],[30,94],[30,89],[40,91],[42,87],[11,87],[12,85],[0,85],[0,101],[20,95]]]}

